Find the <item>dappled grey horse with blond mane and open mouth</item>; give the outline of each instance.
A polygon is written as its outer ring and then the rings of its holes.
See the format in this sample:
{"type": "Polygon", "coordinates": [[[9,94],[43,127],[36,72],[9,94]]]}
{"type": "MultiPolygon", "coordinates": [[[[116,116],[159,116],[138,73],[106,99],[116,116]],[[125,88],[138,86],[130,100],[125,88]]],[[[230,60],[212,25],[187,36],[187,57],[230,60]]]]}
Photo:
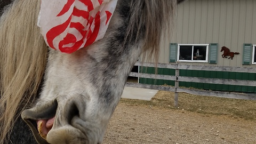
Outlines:
{"type": "Polygon", "coordinates": [[[41,0],[1,1],[0,143],[102,143],[134,63],[157,61],[182,1],[118,0],[105,36],[71,54],[46,45],[41,0]]]}

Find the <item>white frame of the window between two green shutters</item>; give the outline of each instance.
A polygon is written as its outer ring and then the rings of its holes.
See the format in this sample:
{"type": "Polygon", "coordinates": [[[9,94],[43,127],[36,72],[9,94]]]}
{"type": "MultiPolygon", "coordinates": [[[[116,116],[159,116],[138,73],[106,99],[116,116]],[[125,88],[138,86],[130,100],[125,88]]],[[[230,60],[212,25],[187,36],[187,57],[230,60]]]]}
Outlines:
{"type": "MultiPolygon", "coordinates": [[[[209,57],[209,45],[210,44],[178,44],[178,53],[177,53],[177,61],[179,62],[203,62],[207,63],[208,62],[208,57],[209,57]],[[180,60],[180,46],[192,46],[192,53],[194,53],[194,46],[206,46],[206,55],[205,55],[205,60],[180,60]]],[[[255,63],[256,64],[256,63],[255,63]]]]}

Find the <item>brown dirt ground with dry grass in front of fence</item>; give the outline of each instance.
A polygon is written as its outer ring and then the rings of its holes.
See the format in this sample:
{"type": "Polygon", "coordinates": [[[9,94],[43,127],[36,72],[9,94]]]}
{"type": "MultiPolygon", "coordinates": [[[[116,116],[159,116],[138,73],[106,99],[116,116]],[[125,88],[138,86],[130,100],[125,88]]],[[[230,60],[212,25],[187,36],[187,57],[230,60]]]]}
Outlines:
{"type": "Polygon", "coordinates": [[[256,143],[255,101],[181,94],[179,108],[173,108],[170,94],[158,93],[149,102],[121,100],[103,143],[256,143]],[[198,103],[194,106],[183,97],[198,103]],[[218,106],[214,106],[216,101],[218,106]]]}

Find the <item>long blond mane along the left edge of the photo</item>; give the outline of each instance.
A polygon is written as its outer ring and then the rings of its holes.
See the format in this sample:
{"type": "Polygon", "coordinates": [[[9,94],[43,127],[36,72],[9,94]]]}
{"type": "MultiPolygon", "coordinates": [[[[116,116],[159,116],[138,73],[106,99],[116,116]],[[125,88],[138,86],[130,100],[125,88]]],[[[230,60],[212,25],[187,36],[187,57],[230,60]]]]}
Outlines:
{"type": "Polygon", "coordinates": [[[37,27],[39,6],[39,0],[14,1],[0,19],[0,143],[35,100],[44,74],[47,48],[37,27]]]}

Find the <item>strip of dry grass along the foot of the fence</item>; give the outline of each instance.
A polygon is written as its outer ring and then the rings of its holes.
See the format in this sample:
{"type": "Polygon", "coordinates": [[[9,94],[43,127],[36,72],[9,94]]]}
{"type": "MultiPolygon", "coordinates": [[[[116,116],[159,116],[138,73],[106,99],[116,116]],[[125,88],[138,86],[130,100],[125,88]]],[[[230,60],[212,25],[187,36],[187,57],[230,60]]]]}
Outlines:
{"type": "Polygon", "coordinates": [[[205,97],[179,93],[179,107],[174,107],[174,93],[158,91],[151,101],[121,99],[131,105],[148,105],[152,107],[186,110],[201,114],[227,115],[256,121],[256,101],[238,100],[218,97],[205,97]]]}

